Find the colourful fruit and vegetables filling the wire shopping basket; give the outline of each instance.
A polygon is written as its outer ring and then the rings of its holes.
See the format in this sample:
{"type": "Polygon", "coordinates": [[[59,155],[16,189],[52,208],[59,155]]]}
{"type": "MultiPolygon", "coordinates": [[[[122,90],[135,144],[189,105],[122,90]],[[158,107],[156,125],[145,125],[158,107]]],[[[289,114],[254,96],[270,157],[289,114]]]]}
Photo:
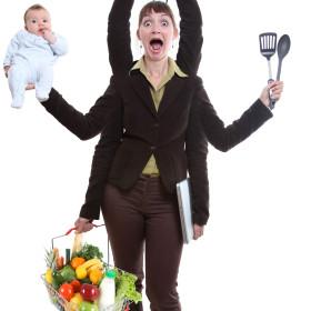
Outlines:
{"type": "MultiPolygon", "coordinates": [[[[66,301],[66,310],[99,311],[100,283],[106,269],[111,269],[102,261],[102,252],[92,244],[81,244],[72,250],[71,258],[66,250],[66,260],[58,249],[46,253],[46,282],[66,301]]],[[[116,302],[128,299],[138,303],[141,293],[136,290],[137,277],[116,270],[116,302]]]]}

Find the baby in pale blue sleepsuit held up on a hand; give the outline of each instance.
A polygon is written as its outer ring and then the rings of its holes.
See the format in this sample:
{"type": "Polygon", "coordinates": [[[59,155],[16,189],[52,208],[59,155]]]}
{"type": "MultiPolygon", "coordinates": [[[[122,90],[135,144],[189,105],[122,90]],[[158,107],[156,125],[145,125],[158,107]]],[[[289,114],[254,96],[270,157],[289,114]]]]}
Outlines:
{"type": "Polygon", "coordinates": [[[12,94],[13,108],[23,104],[28,84],[36,87],[39,101],[49,98],[53,80],[53,63],[67,52],[66,40],[51,30],[50,13],[40,4],[31,6],[23,16],[24,30],[11,40],[3,61],[12,94]]]}

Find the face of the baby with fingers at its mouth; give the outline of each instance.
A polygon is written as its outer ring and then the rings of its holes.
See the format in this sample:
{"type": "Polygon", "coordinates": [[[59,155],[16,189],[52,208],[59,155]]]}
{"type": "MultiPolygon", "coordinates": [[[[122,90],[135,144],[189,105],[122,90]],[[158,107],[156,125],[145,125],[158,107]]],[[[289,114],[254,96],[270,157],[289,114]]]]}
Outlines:
{"type": "Polygon", "coordinates": [[[43,37],[46,30],[51,30],[51,18],[47,10],[31,10],[27,13],[24,28],[37,36],[43,37]]]}

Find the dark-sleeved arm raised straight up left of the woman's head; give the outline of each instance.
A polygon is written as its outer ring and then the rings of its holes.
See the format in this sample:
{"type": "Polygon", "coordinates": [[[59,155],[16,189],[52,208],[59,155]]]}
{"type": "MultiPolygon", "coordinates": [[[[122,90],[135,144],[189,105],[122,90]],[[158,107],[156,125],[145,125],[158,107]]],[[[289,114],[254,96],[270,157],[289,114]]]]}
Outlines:
{"type": "Polygon", "coordinates": [[[133,62],[130,17],[133,0],[114,0],[108,17],[108,51],[113,74],[128,72],[133,62]]]}

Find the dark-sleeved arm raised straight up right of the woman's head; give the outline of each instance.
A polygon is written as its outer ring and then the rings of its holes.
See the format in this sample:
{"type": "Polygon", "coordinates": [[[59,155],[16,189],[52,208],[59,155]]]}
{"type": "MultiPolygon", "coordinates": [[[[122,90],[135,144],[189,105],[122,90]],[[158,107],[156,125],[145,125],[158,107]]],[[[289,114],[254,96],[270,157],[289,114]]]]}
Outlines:
{"type": "Polygon", "coordinates": [[[180,14],[178,66],[189,76],[195,76],[201,61],[202,16],[197,0],[177,0],[180,14]]]}

